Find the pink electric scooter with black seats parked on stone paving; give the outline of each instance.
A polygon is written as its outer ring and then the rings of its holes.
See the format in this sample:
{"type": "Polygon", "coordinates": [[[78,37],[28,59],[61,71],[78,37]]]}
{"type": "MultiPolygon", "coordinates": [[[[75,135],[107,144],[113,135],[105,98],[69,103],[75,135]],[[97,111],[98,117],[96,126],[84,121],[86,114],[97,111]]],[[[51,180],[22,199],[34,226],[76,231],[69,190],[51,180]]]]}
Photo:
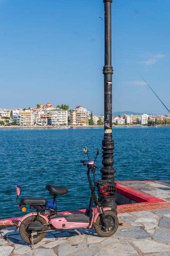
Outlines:
{"type": "MultiPolygon", "coordinates": [[[[87,147],[83,148],[83,152],[87,153],[87,147]]],[[[99,155],[97,149],[96,158],[99,155]]],[[[87,153],[88,156],[88,153],[87,153]]],[[[95,158],[95,160],[96,160],[95,158]]],[[[62,214],[57,213],[56,209],[56,196],[64,195],[67,193],[67,188],[63,186],[47,185],[46,189],[52,194],[53,201],[47,201],[42,197],[23,197],[21,198],[19,209],[23,212],[26,211],[25,206],[30,205],[31,209],[36,209],[36,212],[28,213],[21,218],[16,226],[19,229],[21,238],[31,243],[32,248],[34,244],[41,241],[48,231],[66,230],[66,229],[79,229],[79,228],[95,228],[96,232],[101,237],[109,237],[114,234],[118,228],[117,215],[111,208],[102,208],[102,199],[111,199],[116,196],[116,184],[114,182],[107,182],[98,180],[95,181],[95,170],[98,168],[95,165],[95,160],[81,161],[84,166],[87,166],[87,177],[91,189],[91,196],[89,207],[84,214],[62,214]],[[94,185],[90,179],[90,171],[94,175],[94,185]],[[95,195],[95,188],[98,190],[98,201],[95,195]],[[97,212],[94,212],[92,205],[95,202],[97,212]]],[[[21,194],[21,188],[16,185],[17,198],[21,194]]],[[[17,199],[16,199],[17,200],[17,199]]]]}

